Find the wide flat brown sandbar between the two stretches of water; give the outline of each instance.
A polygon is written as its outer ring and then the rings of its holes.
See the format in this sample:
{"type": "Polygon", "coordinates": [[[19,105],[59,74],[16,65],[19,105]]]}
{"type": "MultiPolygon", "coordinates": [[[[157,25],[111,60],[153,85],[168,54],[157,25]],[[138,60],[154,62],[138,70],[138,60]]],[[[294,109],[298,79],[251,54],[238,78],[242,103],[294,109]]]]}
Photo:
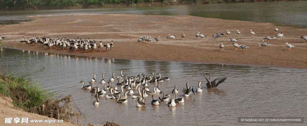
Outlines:
{"type": "Polygon", "coordinates": [[[263,67],[282,67],[307,69],[307,43],[300,36],[307,35],[307,29],[279,27],[279,33],[284,33],[282,40],[271,40],[267,49],[259,47],[266,36],[275,36],[273,24],[255,23],[248,21],[231,21],[194,16],[160,16],[139,14],[74,14],[58,16],[35,16],[35,21],[23,22],[19,25],[5,25],[1,28],[2,41],[16,45],[18,49],[40,52],[55,52],[93,57],[109,57],[120,59],[140,59],[157,61],[177,61],[193,63],[222,63],[237,65],[255,65],[263,67]],[[41,18],[44,17],[44,18],[41,18]],[[17,30],[12,30],[17,29],[17,30]],[[226,30],[231,31],[230,37],[226,30]],[[241,32],[237,36],[236,30],[241,32]],[[250,30],[256,32],[251,37],[250,30]],[[196,39],[196,32],[207,36],[204,40],[196,39]],[[185,40],[181,34],[185,33],[185,40]],[[223,33],[225,36],[214,40],[212,35],[223,33]],[[168,41],[168,34],[175,35],[174,40],[168,41]],[[151,44],[138,44],[141,36],[151,36],[151,44]],[[114,49],[110,52],[70,52],[68,50],[42,48],[42,46],[21,45],[21,37],[48,36],[56,39],[67,37],[90,38],[97,42],[113,40],[114,49]],[[160,36],[157,43],[153,38],[160,36]],[[230,38],[236,38],[238,44],[248,45],[248,51],[235,48],[230,38]],[[288,51],[286,42],[295,47],[288,51]],[[219,45],[225,45],[220,51],[219,45]]]}

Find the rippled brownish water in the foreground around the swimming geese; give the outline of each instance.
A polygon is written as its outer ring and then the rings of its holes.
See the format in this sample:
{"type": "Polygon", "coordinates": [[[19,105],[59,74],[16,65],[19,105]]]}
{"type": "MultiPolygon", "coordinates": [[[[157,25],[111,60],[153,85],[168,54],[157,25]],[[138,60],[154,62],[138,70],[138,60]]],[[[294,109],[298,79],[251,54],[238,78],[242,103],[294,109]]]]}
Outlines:
{"type": "MultiPolygon", "coordinates": [[[[1,52],[0,64],[4,71],[35,72],[45,67],[43,72],[33,74],[36,82],[46,90],[58,96],[72,94],[81,112],[83,123],[90,119],[93,124],[115,120],[121,125],[238,125],[237,117],[306,117],[307,116],[307,70],[283,69],[271,67],[251,67],[222,64],[159,62],[126,59],[83,57],[7,49],[1,52]],[[86,82],[98,74],[98,81],[115,76],[120,71],[128,76],[150,75],[151,72],[169,76],[169,81],[161,82],[160,89],[171,93],[173,86],[185,87],[185,82],[197,87],[197,82],[204,89],[185,98],[184,104],[168,107],[167,102],[159,106],[150,105],[147,97],[146,107],[136,107],[137,99],[128,97],[128,103],[119,104],[114,100],[100,98],[101,105],[95,107],[94,94],[81,90],[80,81],[86,82]],[[210,73],[211,78],[227,76],[227,80],[216,89],[206,89],[203,75],[210,73]]],[[[107,80],[106,79],[106,80],[107,80]]],[[[94,86],[102,87],[96,82],[94,86]]],[[[152,90],[156,83],[148,84],[152,90]]],[[[155,95],[155,98],[161,95],[155,95]]],[[[179,91],[177,97],[183,97],[179,91]]],[[[242,124],[263,125],[263,124],[242,124]]],[[[305,124],[265,124],[265,125],[306,125],[305,124]]]]}

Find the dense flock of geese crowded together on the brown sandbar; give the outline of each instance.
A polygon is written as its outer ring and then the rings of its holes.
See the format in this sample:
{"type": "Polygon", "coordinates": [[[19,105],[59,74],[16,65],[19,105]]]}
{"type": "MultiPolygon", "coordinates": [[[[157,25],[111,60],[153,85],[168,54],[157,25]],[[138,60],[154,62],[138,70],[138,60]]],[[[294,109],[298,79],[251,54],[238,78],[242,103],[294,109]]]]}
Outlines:
{"type": "Polygon", "coordinates": [[[99,41],[99,45],[96,44],[96,41],[93,40],[91,41],[90,38],[82,40],[81,38],[79,39],[79,37],[74,38],[73,40],[70,40],[68,38],[62,38],[59,39],[59,37],[57,37],[57,39],[51,39],[49,37],[42,37],[41,39],[39,39],[36,36],[32,36],[32,39],[27,39],[24,40],[23,36],[22,39],[20,41],[21,44],[26,43],[27,45],[30,44],[34,44],[35,46],[38,43],[41,43],[42,46],[45,48],[45,46],[47,46],[47,48],[52,49],[52,48],[60,48],[60,49],[68,49],[68,50],[73,50],[74,52],[77,52],[77,50],[79,49],[79,51],[84,51],[85,52],[90,52],[90,50],[92,52],[96,52],[96,49],[98,48],[99,51],[101,52],[101,49],[106,47],[107,52],[109,52],[109,50],[112,50],[112,48],[114,48],[114,44],[113,44],[113,40],[111,41],[111,44],[109,44],[109,42],[107,42],[107,44],[102,44],[102,41],[99,41]]]}

